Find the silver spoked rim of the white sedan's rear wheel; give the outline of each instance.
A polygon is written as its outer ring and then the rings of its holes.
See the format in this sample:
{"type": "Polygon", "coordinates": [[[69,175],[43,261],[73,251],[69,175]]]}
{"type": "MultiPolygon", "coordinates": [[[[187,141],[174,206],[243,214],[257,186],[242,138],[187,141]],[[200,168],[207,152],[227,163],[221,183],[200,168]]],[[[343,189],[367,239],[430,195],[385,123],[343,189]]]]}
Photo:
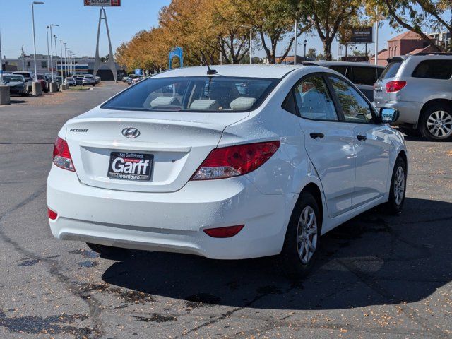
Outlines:
{"type": "Polygon", "coordinates": [[[316,213],[311,206],[306,206],[302,210],[297,227],[298,256],[304,265],[309,263],[316,251],[317,230],[316,213]]]}

